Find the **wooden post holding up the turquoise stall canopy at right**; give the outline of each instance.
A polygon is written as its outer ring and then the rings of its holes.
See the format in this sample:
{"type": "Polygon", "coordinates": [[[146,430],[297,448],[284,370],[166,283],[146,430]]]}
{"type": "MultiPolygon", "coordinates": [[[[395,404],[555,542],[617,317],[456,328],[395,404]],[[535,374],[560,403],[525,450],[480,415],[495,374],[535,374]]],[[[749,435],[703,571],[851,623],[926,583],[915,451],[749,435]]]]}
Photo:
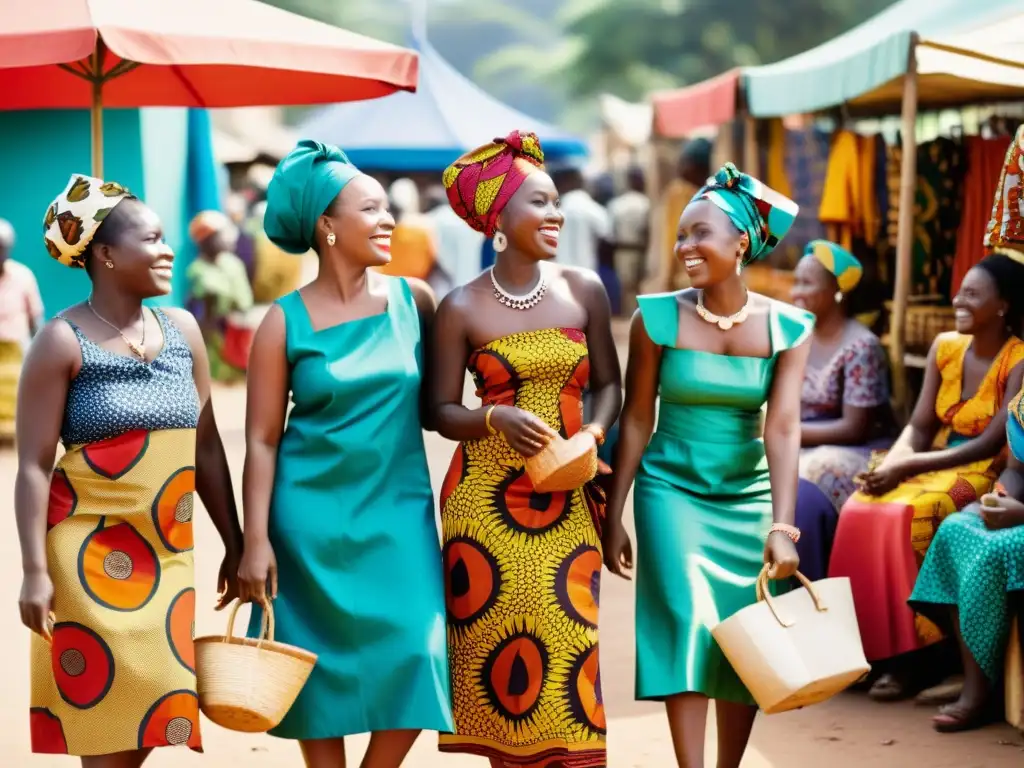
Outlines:
{"type": "Polygon", "coordinates": [[[907,409],[906,308],[910,295],[910,264],[913,256],[913,209],[918,190],[918,42],[910,35],[910,51],[903,78],[901,112],[903,148],[899,175],[899,232],[896,239],[896,282],[893,288],[892,315],[889,318],[889,353],[893,371],[893,404],[901,416],[907,409]]]}

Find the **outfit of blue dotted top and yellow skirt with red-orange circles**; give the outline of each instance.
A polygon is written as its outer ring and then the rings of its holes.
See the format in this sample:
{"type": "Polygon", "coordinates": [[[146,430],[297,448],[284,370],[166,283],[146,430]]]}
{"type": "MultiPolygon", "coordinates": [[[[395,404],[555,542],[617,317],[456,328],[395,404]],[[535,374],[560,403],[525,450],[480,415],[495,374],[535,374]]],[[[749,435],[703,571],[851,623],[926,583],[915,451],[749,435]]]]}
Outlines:
{"type": "Polygon", "coordinates": [[[53,643],[32,639],[32,751],[201,750],[193,648],[199,397],[188,342],[155,310],[152,362],[72,328],[72,381],[47,515],[53,643]]]}

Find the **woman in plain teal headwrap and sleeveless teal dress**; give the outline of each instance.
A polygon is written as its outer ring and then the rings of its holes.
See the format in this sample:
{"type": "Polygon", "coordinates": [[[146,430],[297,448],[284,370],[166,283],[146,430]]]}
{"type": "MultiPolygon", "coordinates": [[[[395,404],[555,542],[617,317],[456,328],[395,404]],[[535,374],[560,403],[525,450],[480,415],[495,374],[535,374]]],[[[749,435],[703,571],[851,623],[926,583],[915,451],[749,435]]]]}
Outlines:
{"type": "MultiPolygon", "coordinates": [[[[452,728],[423,443],[433,294],[376,270],[387,195],[338,147],[300,141],[266,194],[267,237],[319,257],[267,313],[249,375],[243,599],[273,597],[276,639],[318,656],[270,733],[338,768],[345,736],[371,732],[364,768],[397,768],[420,730],[452,728]]],[[[261,620],[254,607],[250,636],[261,620]]]]}

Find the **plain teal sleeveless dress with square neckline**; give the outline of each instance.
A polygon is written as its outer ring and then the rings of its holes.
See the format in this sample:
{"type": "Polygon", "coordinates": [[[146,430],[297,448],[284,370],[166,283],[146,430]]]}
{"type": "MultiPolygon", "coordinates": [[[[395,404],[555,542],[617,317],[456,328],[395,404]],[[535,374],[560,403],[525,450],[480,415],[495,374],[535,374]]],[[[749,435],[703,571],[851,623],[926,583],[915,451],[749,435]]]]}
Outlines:
{"type": "MultiPolygon", "coordinates": [[[[294,408],[270,506],[275,639],[319,656],[270,731],[283,738],[452,729],[420,318],[387,281],[386,311],[321,331],[297,291],[278,301],[294,408]]],[[[254,606],[250,637],[261,618],[254,606]]]]}

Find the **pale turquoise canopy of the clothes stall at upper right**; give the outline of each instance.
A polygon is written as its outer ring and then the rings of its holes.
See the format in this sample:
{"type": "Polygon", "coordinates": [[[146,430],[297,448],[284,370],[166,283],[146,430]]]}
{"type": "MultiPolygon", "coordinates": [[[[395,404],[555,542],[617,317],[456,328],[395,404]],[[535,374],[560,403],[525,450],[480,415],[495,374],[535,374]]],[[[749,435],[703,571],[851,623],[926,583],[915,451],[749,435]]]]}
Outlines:
{"type": "Polygon", "coordinates": [[[840,104],[851,112],[897,114],[915,46],[916,101],[922,109],[1019,99],[1024,93],[1019,69],[984,61],[992,56],[984,47],[956,55],[940,44],[1019,10],[1020,0],[900,0],[815,48],[744,69],[750,114],[781,117],[840,104]]]}

